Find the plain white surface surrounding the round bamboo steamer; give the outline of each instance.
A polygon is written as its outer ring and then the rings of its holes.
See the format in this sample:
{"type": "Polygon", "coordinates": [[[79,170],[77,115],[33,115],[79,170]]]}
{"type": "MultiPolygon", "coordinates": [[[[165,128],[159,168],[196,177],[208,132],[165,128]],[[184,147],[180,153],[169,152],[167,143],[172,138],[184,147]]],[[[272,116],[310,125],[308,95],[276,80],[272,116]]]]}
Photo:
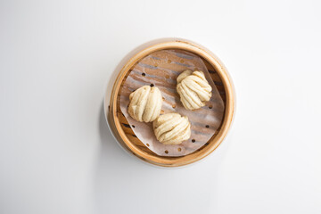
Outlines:
{"type": "Polygon", "coordinates": [[[0,2],[0,213],[321,213],[319,1],[0,2]],[[112,73],[155,38],[226,64],[234,127],[205,160],[158,169],[103,117],[112,73]]]}

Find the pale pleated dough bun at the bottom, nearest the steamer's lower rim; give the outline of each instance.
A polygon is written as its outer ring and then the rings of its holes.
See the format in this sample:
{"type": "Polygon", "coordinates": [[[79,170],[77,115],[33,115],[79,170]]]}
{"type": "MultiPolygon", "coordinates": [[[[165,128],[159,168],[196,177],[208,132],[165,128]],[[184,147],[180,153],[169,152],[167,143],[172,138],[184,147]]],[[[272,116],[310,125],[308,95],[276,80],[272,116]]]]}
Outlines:
{"type": "Polygon", "coordinates": [[[152,122],[152,128],[162,144],[181,144],[191,137],[191,123],[178,113],[161,115],[152,122]]]}

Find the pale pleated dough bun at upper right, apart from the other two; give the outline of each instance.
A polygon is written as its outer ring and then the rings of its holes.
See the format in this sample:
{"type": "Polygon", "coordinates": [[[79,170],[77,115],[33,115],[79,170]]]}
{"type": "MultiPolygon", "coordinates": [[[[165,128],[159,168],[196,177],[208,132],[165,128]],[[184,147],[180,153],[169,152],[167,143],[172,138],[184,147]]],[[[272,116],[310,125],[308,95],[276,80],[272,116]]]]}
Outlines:
{"type": "Polygon", "coordinates": [[[211,90],[202,71],[185,70],[177,77],[177,93],[186,110],[202,108],[210,100],[211,90]]]}

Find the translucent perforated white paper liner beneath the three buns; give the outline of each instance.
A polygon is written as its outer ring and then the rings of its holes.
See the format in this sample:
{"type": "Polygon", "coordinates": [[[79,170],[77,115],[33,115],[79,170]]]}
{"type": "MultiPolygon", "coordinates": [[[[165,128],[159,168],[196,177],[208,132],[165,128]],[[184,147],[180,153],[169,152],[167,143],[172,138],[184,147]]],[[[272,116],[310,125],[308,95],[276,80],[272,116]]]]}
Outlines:
{"type": "Polygon", "coordinates": [[[206,144],[221,125],[224,115],[224,102],[210,78],[202,59],[181,50],[162,50],[151,53],[138,62],[126,78],[119,98],[120,110],[128,120],[138,139],[152,152],[161,156],[184,156],[195,152],[206,144]],[[212,87],[212,97],[198,110],[185,110],[177,94],[177,76],[184,70],[202,70],[212,87]],[[157,86],[161,90],[163,103],[161,114],[177,111],[188,117],[192,135],[182,144],[161,144],[154,136],[152,123],[138,122],[128,114],[129,95],[141,86],[157,86]]]}

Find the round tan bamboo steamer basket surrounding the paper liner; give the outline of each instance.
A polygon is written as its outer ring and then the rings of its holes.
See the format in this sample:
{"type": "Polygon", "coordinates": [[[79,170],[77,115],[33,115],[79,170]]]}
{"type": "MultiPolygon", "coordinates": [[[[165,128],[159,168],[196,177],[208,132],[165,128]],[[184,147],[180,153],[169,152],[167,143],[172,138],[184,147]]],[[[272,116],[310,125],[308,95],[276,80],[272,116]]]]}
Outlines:
{"type": "MultiPolygon", "coordinates": [[[[106,100],[108,98],[109,97],[105,98],[105,104],[108,103],[108,100],[106,100]]],[[[136,54],[134,54],[134,56],[130,58],[128,62],[126,62],[124,67],[119,70],[119,75],[112,87],[110,105],[108,108],[105,108],[105,113],[111,128],[111,132],[116,137],[119,144],[128,150],[128,152],[133,153],[139,159],[161,167],[184,166],[195,161],[199,161],[209,155],[210,152],[213,152],[226,137],[234,117],[234,112],[234,88],[232,80],[228,76],[223,63],[218,60],[217,56],[215,56],[213,53],[210,53],[210,51],[206,50],[201,45],[196,45],[192,42],[186,42],[182,40],[157,43],[150,45],[143,50],[137,51],[136,54]],[[136,63],[140,62],[140,60],[150,53],[168,49],[183,50],[200,56],[209,70],[210,78],[212,78],[215,86],[217,86],[219,95],[225,104],[222,122],[216,133],[211,136],[210,140],[197,151],[179,157],[160,156],[147,148],[136,137],[132,128],[128,124],[128,120],[122,114],[119,107],[121,87],[136,63]]]]}

